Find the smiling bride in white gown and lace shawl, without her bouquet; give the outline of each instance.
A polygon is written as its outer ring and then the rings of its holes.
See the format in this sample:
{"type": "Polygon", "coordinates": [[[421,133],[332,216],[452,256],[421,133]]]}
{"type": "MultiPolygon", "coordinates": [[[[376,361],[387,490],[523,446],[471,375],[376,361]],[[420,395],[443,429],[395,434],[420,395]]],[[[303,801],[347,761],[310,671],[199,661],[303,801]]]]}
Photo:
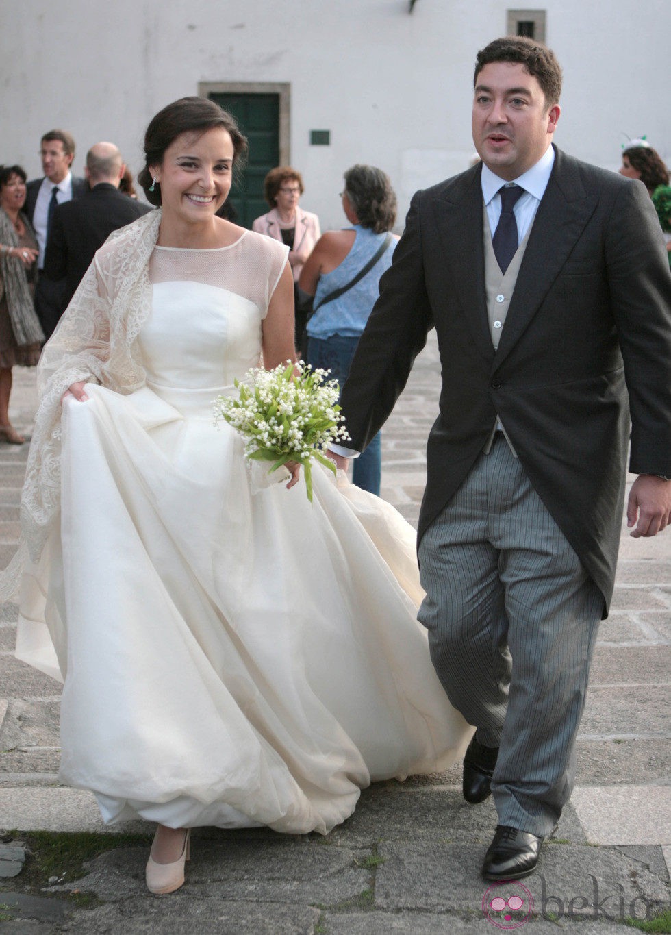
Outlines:
{"type": "Polygon", "coordinates": [[[444,770],[471,729],[435,676],[414,532],[293,466],[253,483],[212,402],[293,359],[287,248],[215,217],[246,140],[211,101],[158,113],[121,229],[46,346],[22,497],[17,655],[64,681],[64,783],[106,822],[158,824],[147,885],[184,882],[189,829],[328,832],[371,781],[444,770]]]}

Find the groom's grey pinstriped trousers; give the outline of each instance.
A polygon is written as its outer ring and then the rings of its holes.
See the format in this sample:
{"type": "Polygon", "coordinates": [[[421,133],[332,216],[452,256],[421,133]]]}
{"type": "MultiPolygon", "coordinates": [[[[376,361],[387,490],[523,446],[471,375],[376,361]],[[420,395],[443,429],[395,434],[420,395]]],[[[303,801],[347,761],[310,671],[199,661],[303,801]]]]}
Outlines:
{"type": "Polygon", "coordinates": [[[499,747],[499,824],[548,835],[571,795],[603,597],[502,433],[421,539],[419,619],[450,702],[499,747]]]}

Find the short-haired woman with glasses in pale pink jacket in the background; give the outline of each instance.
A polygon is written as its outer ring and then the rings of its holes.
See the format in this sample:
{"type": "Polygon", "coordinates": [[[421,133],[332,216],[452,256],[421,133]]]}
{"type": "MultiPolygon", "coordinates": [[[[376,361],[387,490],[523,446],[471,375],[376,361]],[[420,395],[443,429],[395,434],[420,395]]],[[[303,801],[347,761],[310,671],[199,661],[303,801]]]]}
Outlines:
{"type": "Polygon", "coordinates": [[[316,214],[304,211],[298,204],[304,191],[301,174],[291,165],[278,165],[271,169],[264,180],[264,198],[270,210],[251,225],[251,229],[258,234],[275,237],[289,247],[295,305],[294,342],[298,352],[302,351],[307,323],[307,308],[299,300],[298,278],[303,264],[321,237],[320,219],[316,214]]]}

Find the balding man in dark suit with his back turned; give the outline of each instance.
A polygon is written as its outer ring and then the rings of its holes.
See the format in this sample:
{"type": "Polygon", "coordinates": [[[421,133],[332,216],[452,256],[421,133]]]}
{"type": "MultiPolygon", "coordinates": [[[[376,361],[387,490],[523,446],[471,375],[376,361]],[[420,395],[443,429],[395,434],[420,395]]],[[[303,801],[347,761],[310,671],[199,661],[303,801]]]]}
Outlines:
{"type": "Polygon", "coordinates": [[[93,254],[112,231],[151,210],[119,191],[124,170],[121,152],[114,143],[96,143],[86,154],[84,168],[89,193],[53,212],[44,274],[53,281],[64,280],[59,317],[91,266],[93,254]]]}

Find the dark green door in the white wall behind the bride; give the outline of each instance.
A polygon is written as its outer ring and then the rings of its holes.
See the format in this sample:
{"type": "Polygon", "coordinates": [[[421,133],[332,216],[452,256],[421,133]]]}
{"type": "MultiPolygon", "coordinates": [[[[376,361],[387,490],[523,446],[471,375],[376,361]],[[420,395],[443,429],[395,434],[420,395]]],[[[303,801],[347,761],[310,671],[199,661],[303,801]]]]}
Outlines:
{"type": "Polygon", "coordinates": [[[264,199],[264,178],[279,162],[279,94],[207,95],[228,110],[250,142],[242,172],[236,173],[228,200],[236,209],[236,223],[251,227],[254,218],[269,209],[264,199]]]}

